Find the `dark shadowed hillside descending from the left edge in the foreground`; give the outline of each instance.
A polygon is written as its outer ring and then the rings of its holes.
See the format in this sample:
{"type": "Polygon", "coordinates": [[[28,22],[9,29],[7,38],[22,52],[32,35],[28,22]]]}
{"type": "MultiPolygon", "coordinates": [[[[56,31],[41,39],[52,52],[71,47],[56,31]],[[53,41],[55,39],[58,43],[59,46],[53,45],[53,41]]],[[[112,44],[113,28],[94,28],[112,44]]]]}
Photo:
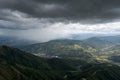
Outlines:
{"type": "Polygon", "coordinates": [[[0,80],[63,80],[87,64],[80,59],[40,58],[16,48],[0,47],[0,80]]]}

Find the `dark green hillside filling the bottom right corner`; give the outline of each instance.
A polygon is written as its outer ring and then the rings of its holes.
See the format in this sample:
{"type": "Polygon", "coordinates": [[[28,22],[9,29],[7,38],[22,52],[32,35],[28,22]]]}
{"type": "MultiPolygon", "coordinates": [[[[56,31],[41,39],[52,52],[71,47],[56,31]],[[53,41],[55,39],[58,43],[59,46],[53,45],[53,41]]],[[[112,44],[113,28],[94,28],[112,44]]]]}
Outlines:
{"type": "Polygon", "coordinates": [[[110,63],[92,64],[82,72],[67,77],[68,80],[120,80],[120,67],[110,63]]]}

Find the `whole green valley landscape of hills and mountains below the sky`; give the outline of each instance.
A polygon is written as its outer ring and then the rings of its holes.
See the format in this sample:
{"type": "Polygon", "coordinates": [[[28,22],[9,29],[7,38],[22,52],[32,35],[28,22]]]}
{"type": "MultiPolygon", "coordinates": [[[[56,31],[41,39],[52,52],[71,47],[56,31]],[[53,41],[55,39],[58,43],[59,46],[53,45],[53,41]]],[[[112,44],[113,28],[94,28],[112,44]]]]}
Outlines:
{"type": "Polygon", "coordinates": [[[120,46],[100,38],[52,40],[18,48],[0,46],[0,80],[120,79],[120,46]]]}

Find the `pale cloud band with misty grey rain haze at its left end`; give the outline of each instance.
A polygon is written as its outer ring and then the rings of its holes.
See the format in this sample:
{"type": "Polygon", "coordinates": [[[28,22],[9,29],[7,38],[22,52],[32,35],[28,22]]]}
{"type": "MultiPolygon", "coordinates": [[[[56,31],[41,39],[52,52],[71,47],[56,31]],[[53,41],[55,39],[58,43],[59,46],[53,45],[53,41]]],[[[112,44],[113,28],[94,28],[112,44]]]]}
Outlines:
{"type": "MultiPolygon", "coordinates": [[[[54,39],[71,38],[77,34],[120,34],[120,22],[104,24],[81,24],[78,22],[46,22],[44,25],[37,23],[36,28],[28,29],[2,29],[4,35],[19,39],[45,42],[54,39]],[[43,27],[45,26],[45,27],[43,27]]],[[[32,25],[32,24],[31,24],[32,25]]],[[[29,24],[30,26],[30,24],[29,24]]]]}

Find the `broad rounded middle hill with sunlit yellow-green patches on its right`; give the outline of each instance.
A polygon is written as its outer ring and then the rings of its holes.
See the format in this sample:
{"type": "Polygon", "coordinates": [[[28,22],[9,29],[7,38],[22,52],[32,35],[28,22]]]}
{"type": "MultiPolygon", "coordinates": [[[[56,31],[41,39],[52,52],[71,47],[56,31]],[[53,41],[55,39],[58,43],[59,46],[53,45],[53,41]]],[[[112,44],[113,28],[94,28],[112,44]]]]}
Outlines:
{"type": "Polygon", "coordinates": [[[83,57],[90,58],[96,49],[79,40],[53,40],[24,46],[23,50],[37,54],[59,57],[83,57]]]}

